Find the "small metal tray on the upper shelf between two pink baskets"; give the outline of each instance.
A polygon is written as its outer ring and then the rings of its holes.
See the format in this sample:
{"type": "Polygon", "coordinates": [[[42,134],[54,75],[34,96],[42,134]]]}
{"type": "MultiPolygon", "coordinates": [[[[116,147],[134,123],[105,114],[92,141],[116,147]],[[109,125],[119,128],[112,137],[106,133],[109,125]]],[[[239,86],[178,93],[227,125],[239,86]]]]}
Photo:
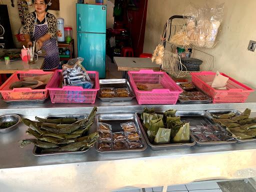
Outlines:
{"type": "Polygon", "coordinates": [[[129,101],[132,100],[135,96],[132,91],[132,88],[130,87],[130,84],[127,79],[121,78],[121,79],[100,79],[99,80],[99,86],[100,88],[103,87],[114,87],[114,88],[128,88],[130,92],[129,97],[112,97],[112,98],[104,98],[100,97],[99,91],[97,92],[97,97],[104,102],[114,102],[114,101],[129,101]]]}

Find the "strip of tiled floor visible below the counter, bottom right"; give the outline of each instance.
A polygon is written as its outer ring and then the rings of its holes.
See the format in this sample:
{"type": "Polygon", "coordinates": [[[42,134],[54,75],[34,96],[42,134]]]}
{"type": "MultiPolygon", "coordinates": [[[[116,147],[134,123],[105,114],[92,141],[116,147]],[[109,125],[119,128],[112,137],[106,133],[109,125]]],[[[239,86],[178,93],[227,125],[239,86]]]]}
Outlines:
{"type": "MultiPolygon", "coordinates": [[[[161,192],[162,187],[145,188],[146,192],[161,192]]],[[[121,192],[119,190],[115,192],[121,192]]],[[[250,183],[243,180],[214,182],[202,181],[189,184],[171,185],[167,187],[167,191],[171,192],[255,192],[256,190],[250,183]]],[[[125,192],[140,192],[140,189],[125,190],[125,192]]]]}

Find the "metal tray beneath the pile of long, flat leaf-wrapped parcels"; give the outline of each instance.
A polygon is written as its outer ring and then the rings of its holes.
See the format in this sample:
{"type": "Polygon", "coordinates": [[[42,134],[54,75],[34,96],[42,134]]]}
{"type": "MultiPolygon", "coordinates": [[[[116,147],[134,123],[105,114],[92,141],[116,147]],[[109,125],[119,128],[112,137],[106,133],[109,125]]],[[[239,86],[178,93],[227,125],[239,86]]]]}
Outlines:
{"type": "MultiPolygon", "coordinates": [[[[88,114],[73,114],[73,115],[49,115],[46,118],[77,118],[77,120],[79,119],[83,119],[88,117],[88,114]]],[[[89,130],[86,133],[87,135],[89,134],[89,130]]],[[[85,148],[84,150],[80,150],[80,151],[53,151],[53,149],[41,149],[38,146],[34,146],[33,148],[33,155],[35,156],[48,156],[48,155],[61,155],[61,154],[80,154],[80,153],[84,153],[87,150],[89,150],[89,148],[85,148]]]]}

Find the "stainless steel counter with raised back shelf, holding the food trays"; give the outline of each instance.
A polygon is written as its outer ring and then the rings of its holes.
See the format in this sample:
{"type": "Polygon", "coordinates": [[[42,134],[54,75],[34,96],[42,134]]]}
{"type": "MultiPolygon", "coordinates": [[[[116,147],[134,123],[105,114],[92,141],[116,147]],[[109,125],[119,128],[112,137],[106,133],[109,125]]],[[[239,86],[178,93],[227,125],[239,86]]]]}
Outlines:
{"type": "MultiPolygon", "coordinates": [[[[16,113],[34,119],[50,114],[89,113],[93,106],[98,113],[135,112],[143,107],[129,102],[95,104],[50,103],[38,105],[6,105],[0,102],[0,115],[16,113]]],[[[256,94],[246,103],[153,105],[156,110],[170,108],[206,110],[246,107],[256,112],[256,94]]],[[[256,116],[256,113],[253,113],[256,116]]],[[[26,126],[0,134],[0,191],[110,191],[125,186],[150,187],[188,183],[195,180],[233,179],[256,176],[256,143],[224,146],[193,146],[187,149],[140,153],[101,154],[90,148],[84,154],[34,156],[32,145],[20,148],[17,141],[29,138],[26,126]],[[61,187],[60,187],[61,186],[61,187]]],[[[93,131],[95,125],[91,127],[93,131]]]]}

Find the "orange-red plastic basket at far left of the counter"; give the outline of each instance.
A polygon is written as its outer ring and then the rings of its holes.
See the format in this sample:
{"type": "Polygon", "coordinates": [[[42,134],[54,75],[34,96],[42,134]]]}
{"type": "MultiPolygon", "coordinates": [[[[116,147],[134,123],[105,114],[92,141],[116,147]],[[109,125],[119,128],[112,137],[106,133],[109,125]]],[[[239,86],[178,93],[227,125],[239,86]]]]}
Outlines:
{"type": "Polygon", "coordinates": [[[31,89],[31,88],[13,88],[10,89],[11,83],[23,80],[24,77],[39,76],[44,74],[52,74],[53,72],[45,72],[43,70],[28,70],[14,72],[1,86],[0,93],[5,100],[20,99],[20,100],[37,100],[44,99],[48,96],[48,90],[31,89]]]}

